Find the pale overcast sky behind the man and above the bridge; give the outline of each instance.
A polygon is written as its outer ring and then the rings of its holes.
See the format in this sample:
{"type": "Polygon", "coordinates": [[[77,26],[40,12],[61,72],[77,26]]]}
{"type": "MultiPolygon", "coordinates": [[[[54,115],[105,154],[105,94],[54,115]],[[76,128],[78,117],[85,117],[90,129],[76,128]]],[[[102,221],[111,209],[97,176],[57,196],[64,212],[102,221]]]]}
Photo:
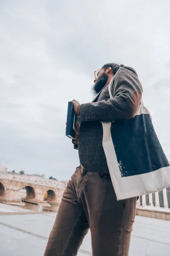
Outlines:
{"type": "Polygon", "coordinates": [[[0,163],[68,180],[68,101],[90,102],[94,70],[133,67],[170,160],[169,0],[0,0],[0,163]]]}

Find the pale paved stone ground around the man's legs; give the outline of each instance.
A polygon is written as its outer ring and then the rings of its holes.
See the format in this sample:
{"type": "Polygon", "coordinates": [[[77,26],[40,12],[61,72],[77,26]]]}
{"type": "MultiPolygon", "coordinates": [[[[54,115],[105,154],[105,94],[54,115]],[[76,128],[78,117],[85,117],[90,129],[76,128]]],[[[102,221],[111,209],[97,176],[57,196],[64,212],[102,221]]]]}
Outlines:
{"type": "MultiPolygon", "coordinates": [[[[0,215],[0,256],[43,256],[55,216],[0,215]]],[[[87,255],[92,256],[90,232],[78,253],[87,255]]],[[[170,256],[170,221],[136,216],[129,256],[170,256]]]]}

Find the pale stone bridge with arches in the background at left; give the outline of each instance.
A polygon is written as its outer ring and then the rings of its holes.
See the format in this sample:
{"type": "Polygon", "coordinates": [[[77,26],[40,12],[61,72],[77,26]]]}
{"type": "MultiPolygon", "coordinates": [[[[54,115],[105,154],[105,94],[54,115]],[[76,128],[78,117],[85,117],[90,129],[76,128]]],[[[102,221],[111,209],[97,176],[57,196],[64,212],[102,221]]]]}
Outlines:
{"type": "Polygon", "coordinates": [[[21,189],[26,189],[25,201],[39,204],[44,200],[60,204],[66,182],[29,175],[0,174],[0,201],[18,202],[21,189]]]}

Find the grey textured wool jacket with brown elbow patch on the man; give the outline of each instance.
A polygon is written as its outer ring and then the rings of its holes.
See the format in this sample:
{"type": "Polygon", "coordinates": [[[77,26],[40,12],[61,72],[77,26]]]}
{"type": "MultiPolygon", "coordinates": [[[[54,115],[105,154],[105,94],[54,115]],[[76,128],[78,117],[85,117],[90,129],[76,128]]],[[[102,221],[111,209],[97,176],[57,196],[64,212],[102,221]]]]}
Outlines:
{"type": "Polygon", "coordinates": [[[79,159],[89,172],[109,172],[102,147],[102,122],[133,118],[142,98],[142,85],[136,71],[121,67],[111,81],[113,99],[108,85],[93,102],[81,105],[79,159]]]}

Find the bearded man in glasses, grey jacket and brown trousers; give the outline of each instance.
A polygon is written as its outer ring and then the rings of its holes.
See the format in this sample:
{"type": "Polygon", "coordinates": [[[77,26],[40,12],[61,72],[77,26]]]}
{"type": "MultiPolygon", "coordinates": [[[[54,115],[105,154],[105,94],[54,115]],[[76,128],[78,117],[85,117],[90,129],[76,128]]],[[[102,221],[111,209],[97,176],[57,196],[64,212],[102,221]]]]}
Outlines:
{"type": "MultiPolygon", "coordinates": [[[[57,212],[45,256],[76,256],[91,230],[93,256],[128,256],[137,198],[117,201],[102,146],[102,123],[131,119],[142,98],[136,71],[115,63],[95,73],[93,102],[73,100],[81,119],[77,167],[57,212]],[[109,95],[109,83],[113,78],[109,95]]],[[[78,136],[79,134],[79,136],[78,136]]]]}

